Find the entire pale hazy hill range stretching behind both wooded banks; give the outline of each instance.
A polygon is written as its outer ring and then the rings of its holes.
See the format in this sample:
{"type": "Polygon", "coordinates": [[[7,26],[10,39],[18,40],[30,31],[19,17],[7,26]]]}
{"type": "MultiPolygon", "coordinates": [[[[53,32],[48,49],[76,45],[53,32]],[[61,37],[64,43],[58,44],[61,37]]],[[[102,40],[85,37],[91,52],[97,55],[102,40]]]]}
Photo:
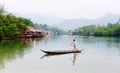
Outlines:
{"type": "Polygon", "coordinates": [[[48,24],[52,26],[57,26],[64,30],[75,29],[78,27],[86,25],[106,25],[107,23],[116,23],[120,15],[107,13],[106,15],[97,18],[97,19],[63,19],[54,15],[40,15],[40,14],[18,14],[14,13],[17,16],[30,18],[34,23],[38,24],[48,24]]]}

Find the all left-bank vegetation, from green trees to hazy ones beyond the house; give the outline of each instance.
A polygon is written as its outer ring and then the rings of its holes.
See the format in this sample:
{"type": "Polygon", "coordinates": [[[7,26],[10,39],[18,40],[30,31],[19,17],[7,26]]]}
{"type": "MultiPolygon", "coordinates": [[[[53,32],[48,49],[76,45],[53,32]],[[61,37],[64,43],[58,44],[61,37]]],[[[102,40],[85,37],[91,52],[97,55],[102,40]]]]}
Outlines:
{"type": "Polygon", "coordinates": [[[34,24],[30,19],[16,17],[12,14],[8,14],[5,11],[4,5],[0,4],[0,39],[16,38],[20,36],[22,31],[27,30],[27,26],[34,26],[38,30],[51,31],[54,34],[63,33],[62,30],[56,27],[50,27],[47,24],[34,24]]]}

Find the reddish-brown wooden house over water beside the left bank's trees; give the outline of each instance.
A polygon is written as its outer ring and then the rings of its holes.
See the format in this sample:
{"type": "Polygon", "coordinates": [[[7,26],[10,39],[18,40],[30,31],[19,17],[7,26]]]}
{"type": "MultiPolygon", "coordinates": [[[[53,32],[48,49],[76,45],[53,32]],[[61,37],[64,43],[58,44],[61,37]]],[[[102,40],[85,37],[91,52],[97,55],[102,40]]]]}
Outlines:
{"type": "Polygon", "coordinates": [[[45,30],[36,30],[32,26],[27,26],[27,30],[21,33],[22,38],[40,38],[47,35],[45,30]]]}

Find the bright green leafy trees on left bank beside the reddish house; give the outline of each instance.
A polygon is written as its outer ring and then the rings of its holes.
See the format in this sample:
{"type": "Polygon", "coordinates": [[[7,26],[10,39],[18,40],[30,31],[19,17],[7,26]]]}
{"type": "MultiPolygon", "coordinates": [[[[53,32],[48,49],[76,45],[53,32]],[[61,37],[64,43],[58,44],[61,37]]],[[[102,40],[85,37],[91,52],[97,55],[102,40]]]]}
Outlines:
{"type": "Polygon", "coordinates": [[[0,39],[18,37],[22,31],[27,30],[28,25],[33,26],[29,19],[0,13],[0,39]]]}

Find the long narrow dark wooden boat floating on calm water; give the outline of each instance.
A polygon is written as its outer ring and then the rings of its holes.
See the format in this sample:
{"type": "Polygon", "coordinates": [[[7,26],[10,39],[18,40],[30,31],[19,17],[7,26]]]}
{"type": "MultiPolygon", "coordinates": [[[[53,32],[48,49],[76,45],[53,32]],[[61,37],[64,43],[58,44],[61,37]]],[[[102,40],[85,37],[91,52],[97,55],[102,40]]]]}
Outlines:
{"type": "Polygon", "coordinates": [[[58,50],[58,51],[46,51],[46,50],[41,50],[44,53],[47,54],[67,54],[67,53],[80,53],[81,50],[58,50]]]}

